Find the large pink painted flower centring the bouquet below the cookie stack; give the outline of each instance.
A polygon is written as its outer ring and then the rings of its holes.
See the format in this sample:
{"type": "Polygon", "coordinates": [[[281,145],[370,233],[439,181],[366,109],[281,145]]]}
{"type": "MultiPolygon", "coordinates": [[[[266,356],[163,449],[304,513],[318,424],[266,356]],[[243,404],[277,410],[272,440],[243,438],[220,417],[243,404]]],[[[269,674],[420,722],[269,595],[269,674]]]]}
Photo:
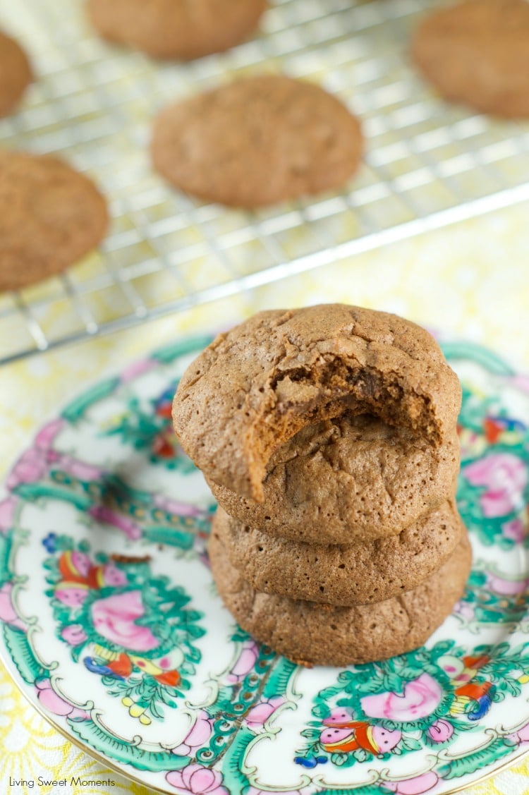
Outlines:
{"type": "Polygon", "coordinates": [[[429,673],[406,682],[402,696],[395,692],[377,693],[360,699],[362,709],[371,718],[418,720],[434,712],[441,701],[442,690],[429,673]]]}

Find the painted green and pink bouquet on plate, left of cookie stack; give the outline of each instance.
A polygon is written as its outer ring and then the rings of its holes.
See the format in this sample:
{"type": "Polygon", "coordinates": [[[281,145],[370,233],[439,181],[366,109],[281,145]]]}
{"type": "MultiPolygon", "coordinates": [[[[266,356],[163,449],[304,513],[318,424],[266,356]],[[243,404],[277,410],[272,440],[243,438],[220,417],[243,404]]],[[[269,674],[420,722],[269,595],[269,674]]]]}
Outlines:
{"type": "Polygon", "coordinates": [[[183,588],[153,575],[148,558],[96,553],[91,560],[88,541],[74,544],[68,536],[53,536],[48,543],[54,554],[44,564],[51,586],[45,593],[56,634],[70,646],[72,659],[82,659],[99,674],[108,692],[142,723],[163,719],[163,706],[175,707],[173,699],[191,687],[200,661],[195,641],[204,635],[198,623],[203,615],[188,607],[183,588]],[[119,630],[112,623],[98,631],[95,611],[101,609],[116,626],[128,621],[128,643],[116,640],[119,630]]]}

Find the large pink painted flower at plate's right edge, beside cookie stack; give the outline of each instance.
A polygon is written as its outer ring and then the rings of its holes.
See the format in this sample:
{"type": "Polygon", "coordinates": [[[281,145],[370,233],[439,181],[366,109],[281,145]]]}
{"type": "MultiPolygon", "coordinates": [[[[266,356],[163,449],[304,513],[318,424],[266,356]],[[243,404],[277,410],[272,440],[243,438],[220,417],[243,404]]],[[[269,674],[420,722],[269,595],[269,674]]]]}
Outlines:
{"type": "Polygon", "coordinates": [[[510,452],[491,453],[470,463],[463,474],[473,486],[486,487],[487,491],[480,497],[484,516],[504,516],[523,506],[527,469],[518,456],[510,452]]]}

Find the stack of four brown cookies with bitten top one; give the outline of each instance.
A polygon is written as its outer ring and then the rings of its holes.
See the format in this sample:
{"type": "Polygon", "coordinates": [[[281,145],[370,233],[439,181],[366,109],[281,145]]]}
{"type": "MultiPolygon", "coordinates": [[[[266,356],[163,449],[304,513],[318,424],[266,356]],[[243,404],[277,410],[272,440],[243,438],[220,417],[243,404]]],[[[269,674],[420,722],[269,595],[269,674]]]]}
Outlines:
{"type": "Polygon", "coordinates": [[[424,329],[324,304],[259,312],[185,372],[177,435],[220,507],[217,588],[305,665],[421,646],[460,598],[457,376],[424,329]]]}

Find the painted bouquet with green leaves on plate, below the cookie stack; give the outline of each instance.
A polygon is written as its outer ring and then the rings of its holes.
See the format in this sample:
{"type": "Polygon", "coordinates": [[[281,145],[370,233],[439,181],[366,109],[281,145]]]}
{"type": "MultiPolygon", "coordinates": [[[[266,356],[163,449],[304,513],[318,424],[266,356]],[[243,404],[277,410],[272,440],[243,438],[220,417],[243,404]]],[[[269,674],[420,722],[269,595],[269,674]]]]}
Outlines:
{"type": "Polygon", "coordinates": [[[431,649],[422,647],[387,661],[356,665],[341,671],[336,684],[318,693],[312,710],[314,720],[301,731],[307,743],[298,750],[296,761],[313,766],[314,760],[327,760],[346,768],[365,762],[370,754],[371,758],[388,759],[423,748],[446,747],[461,732],[478,727],[492,702],[507,695],[519,696],[528,673],[529,643],[515,648],[508,643],[476,646],[469,654],[447,640],[431,649]],[[413,700],[406,692],[410,684],[417,688],[413,700]],[[423,714],[411,719],[413,704],[421,697],[423,714]],[[378,710],[384,708],[387,718],[374,715],[374,704],[378,710]],[[387,752],[375,753],[362,747],[360,740],[356,748],[353,742],[351,750],[329,753],[322,742],[325,726],[351,726],[358,736],[368,731],[371,737],[373,731],[382,730],[384,736],[390,732],[395,744],[387,752]]]}

